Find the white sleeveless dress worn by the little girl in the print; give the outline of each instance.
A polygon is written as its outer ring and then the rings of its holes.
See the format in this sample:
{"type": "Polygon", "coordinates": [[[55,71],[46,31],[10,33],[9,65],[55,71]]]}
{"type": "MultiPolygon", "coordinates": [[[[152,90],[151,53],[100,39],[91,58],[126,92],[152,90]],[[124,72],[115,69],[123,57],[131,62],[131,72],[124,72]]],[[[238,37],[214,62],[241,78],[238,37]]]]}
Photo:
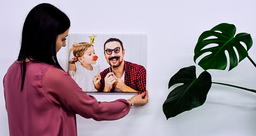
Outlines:
{"type": "Polygon", "coordinates": [[[98,92],[93,84],[93,78],[100,74],[100,65],[92,66],[92,70],[85,69],[81,63],[75,62],[76,74],[72,75],[72,78],[76,81],[76,84],[82,88],[84,92],[98,92]]]}

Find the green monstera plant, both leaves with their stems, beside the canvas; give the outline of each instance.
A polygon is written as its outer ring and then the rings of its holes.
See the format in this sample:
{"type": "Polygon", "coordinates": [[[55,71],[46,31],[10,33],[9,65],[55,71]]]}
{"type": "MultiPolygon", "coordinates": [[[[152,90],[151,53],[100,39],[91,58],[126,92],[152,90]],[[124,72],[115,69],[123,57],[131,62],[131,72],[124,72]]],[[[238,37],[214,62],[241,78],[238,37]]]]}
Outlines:
{"type": "Polygon", "coordinates": [[[228,85],[256,92],[256,90],[240,86],[212,82],[211,74],[206,71],[208,69],[226,69],[228,61],[225,51],[228,51],[229,55],[229,70],[235,68],[238,63],[246,57],[256,67],[256,64],[248,55],[248,50],[252,47],[252,37],[247,33],[239,33],[235,36],[235,33],[235,25],[221,23],[213,27],[211,30],[203,32],[199,36],[194,50],[195,63],[198,57],[210,52],[210,54],[208,53],[209,55],[204,56],[198,62],[198,65],[202,67],[204,71],[196,77],[196,66],[190,66],[181,68],[171,77],[168,88],[172,87],[174,84],[182,83],[182,85],[174,88],[164,101],[163,111],[166,119],[203,105],[212,84],[228,85]],[[215,36],[216,38],[208,39],[212,36],[215,36]],[[243,42],[247,49],[245,49],[240,42],[243,42]],[[209,44],[215,44],[217,46],[207,46],[209,44]],[[236,48],[236,51],[238,52],[239,60],[234,48],[236,48]]]}

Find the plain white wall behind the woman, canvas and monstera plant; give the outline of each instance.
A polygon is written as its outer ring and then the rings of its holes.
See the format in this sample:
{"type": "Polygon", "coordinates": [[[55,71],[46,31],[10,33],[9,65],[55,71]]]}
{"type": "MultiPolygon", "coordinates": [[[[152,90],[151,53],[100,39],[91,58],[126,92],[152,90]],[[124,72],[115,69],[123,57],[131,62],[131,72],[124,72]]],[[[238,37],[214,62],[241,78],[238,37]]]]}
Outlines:
{"type": "MultiPolygon", "coordinates": [[[[222,23],[235,24],[237,33],[250,33],[256,42],[256,2],[214,1],[13,1],[0,4],[0,54],[2,80],[17,59],[20,34],[26,14],[33,6],[48,2],[66,12],[70,33],[147,34],[147,89],[149,103],[132,108],[117,121],[96,122],[77,116],[78,135],[160,136],[252,136],[256,133],[256,94],[213,84],[206,102],[199,108],[166,120],[162,104],[168,82],[180,68],[196,65],[194,47],[200,34],[222,23]],[[93,17],[92,17],[93,16],[93,17]],[[164,56],[164,59],[163,59],[164,56]]],[[[256,62],[256,45],[249,50],[256,62]]],[[[197,75],[203,69],[198,67],[197,75]]],[[[256,89],[256,68],[246,58],[233,70],[210,70],[212,81],[256,89]]],[[[0,86],[2,82],[0,82],[0,86]]],[[[0,135],[8,135],[3,87],[0,88],[0,135]]],[[[94,95],[99,101],[129,95],[94,95]]]]}

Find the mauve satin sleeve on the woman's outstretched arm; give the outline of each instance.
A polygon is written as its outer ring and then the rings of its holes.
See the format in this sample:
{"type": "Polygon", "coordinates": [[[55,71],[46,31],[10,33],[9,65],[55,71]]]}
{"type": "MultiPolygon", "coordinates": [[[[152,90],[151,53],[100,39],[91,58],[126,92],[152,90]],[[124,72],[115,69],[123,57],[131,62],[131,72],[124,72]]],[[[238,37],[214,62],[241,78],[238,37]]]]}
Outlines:
{"type": "Polygon", "coordinates": [[[45,69],[42,87],[47,97],[70,112],[96,121],[117,120],[128,114],[130,104],[124,99],[97,101],[87,95],[66,72],[58,68],[45,69]]]}

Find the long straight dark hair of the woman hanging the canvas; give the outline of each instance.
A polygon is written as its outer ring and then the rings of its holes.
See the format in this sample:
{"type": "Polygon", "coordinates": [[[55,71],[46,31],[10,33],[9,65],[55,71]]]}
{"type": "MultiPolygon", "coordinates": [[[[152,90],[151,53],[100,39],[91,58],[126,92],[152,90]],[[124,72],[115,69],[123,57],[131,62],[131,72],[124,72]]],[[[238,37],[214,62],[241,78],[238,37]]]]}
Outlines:
{"type": "Polygon", "coordinates": [[[21,91],[26,75],[26,58],[62,69],[56,57],[56,38],[69,27],[68,16],[51,4],[38,4],[28,13],[22,29],[18,56],[18,61],[21,62],[21,91]]]}

